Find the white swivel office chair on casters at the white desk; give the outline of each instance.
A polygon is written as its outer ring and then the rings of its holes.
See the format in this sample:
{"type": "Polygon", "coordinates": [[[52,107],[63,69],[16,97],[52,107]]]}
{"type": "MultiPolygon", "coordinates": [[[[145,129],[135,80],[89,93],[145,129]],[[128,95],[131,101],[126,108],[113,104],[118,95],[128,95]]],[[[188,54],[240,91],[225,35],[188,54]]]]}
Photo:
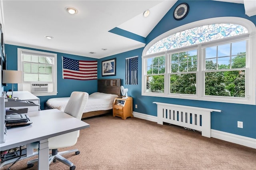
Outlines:
{"type": "MultiPolygon", "coordinates": [[[[80,91],[72,92],[70,95],[68,104],[65,107],[64,113],[67,113],[81,120],[84,108],[86,107],[86,103],[88,101],[88,96],[89,94],[86,92],[80,92],[80,91]]],[[[74,166],[74,164],[70,160],[67,160],[62,155],[69,154],[72,152],[75,152],[75,154],[77,155],[80,153],[78,149],[58,152],[58,148],[74,146],[74,144],[76,144],[77,142],[78,136],[79,136],[79,130],[49,138],[48,139],[49,149],[52,150],[52,154],[49,155],[49,164],[52,161],[56,162],[56,160],[59,160],[60,162],[70,166],[70,170],[75,170],[76,166],[74,166]]],[[[28,168],[31,168],[34,165],[33,163],[35,162],[38,162],[38,159],[27,162],[28,168]]]]}

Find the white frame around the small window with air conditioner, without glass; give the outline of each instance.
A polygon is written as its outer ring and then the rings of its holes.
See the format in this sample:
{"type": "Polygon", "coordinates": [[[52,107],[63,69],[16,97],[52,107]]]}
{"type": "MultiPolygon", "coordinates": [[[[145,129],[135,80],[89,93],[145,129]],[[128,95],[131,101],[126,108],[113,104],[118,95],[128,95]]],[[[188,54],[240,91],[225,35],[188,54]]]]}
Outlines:
{"type": "Polygon", "coordinates": [[[22,71],[22,84],[18,84],[18,91],[29,91],[31,93],[31,83],[39,83],[39,82],[28,82],[24,81],[24,71],[23,71],[23,61],[22,61],[22,52],[30,53],[33,55],[52,57],[54,58],[54,63],[52,63],[52,82],[40,82],[40,83],[52,83],[53,91],[45,92],[45,93],[33,93],[36,96],[49,96],[49,95],[57,95],[57,54],[56,53],[48,53],[43,51],[35,51],[30,49],[22,49],[18,48],[18,70],[22,71]]]}

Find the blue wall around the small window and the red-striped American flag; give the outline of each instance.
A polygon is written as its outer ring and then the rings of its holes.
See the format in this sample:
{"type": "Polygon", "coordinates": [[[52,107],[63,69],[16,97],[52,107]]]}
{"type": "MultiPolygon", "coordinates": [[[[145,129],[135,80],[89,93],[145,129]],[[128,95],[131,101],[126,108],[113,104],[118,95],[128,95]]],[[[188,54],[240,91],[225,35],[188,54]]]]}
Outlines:
{"type": "MultiPolygon", "coordinates": [[[[17,48],[23,49],[31,49],[37,51],[44,51],[50,53],[57,54],[57,82],[58,82],[58,93],[54,96],[39,96],[41,109],[44,109],[44,103],[53,97],[69,97],[72,91],[86,91],[91,94],[97,91],[97,80],[73,80],[73,79],[62,79],[62,56],[68,57],[76,60],[87,60],[87,61],[96,61],[98,59],[90,58],[90,57],[82,57],[78,55],[71,55],[66,53],[59,53],[54,51],[45,51],[40,49],[33,49],[27,47],[21,47],[16,45],[5,44],[5,51],[7,55],[7,69],[9,70],[17,70],[17,48]]],[[[17,90],[17,84],[15,85],[14,91],[17,90]]],[[[8,86],[4,87],[4,91],[8,91],[12,89],[12,85],[8,84],[8,86]]]]}

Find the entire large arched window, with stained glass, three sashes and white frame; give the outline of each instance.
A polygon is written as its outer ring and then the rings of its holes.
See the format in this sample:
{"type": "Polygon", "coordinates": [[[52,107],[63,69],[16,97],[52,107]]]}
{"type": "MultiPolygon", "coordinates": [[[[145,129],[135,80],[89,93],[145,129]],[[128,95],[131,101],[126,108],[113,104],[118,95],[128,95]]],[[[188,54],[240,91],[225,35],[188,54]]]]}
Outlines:
{"type": "Polygon", "coordinates": [[[142,56],[142,95],[255,105],[255,26],[242,18],[218,20],[150,42],[142,56]]]}

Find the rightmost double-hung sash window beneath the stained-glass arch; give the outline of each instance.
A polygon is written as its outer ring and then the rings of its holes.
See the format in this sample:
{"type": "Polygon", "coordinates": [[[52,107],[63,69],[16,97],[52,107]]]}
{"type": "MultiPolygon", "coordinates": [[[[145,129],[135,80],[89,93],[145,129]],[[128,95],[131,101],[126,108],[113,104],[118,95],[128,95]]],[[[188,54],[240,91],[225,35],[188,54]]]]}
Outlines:
{"type": "Polygon", "coordinates": [[[247,41],[204,48],[204,94],[245,98],[247,41]]]}

